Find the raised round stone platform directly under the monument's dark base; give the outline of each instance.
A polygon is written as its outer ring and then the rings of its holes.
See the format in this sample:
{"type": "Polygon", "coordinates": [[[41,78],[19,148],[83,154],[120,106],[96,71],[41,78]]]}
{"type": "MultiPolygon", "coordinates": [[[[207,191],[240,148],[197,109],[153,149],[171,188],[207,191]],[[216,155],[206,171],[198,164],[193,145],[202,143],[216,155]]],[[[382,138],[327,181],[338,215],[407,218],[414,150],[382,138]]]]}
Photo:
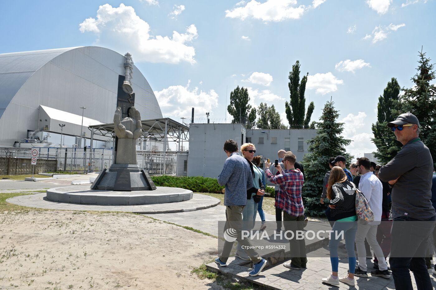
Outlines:
{"type": "Polygon", "coordinates": [[[192,199],[192,191],[164,186],[157,186],[156,190],[110,191],[92,190],[89,185],[84,185],[48,189],[47,199],[78,204],[133,206],[187,201],[192,199]]]}

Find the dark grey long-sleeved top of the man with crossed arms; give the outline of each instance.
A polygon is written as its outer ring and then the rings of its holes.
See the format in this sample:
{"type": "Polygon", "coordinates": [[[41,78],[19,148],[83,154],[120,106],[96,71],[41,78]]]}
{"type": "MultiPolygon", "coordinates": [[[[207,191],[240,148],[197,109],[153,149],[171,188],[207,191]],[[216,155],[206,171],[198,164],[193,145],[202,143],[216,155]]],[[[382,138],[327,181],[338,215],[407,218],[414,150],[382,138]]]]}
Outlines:
{"type": "Polygon", "coordinates": [[[433,159],[429,148],[419,138],[410,140],[385,166],[378,177],[390,181],[399,177],[392,187],[392,217],[408,216],[426,220],[435,216],[431,188],[433,159]]]}

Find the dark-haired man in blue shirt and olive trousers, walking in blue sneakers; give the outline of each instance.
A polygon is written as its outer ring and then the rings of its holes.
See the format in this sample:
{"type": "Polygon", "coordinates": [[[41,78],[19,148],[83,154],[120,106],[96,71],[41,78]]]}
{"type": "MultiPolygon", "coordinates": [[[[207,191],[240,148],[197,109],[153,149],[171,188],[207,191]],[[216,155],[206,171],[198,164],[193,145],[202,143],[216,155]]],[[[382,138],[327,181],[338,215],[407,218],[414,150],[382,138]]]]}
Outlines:
{"type": "MultiPolygon", "coordinates": [[[[218,176],[219,185],[225,185],[224,205],[225,205],[225,230],[235,229],[237,232],[237,241],[245,248],[245,252],[253,261],[253,270],[250,276],[257,276],[266,266],[266,260],[259,255],[250,246],[247,239],[242,239],[242,209],[247,203],[247,189],[253,186],[253,177],[248,162],[238,153],[238,144],[235,140],[227,140],[224,143],[224,151],[227,160],[224,163],[220,175],[218,176]]],[[[259,196],[265,194],[262,190],[256,193],[259,196]]],[[[227,266],[228,256],[232,251],[233,242],[224,242],[221,255],[215,259],[221,267],[227,266]]]]}

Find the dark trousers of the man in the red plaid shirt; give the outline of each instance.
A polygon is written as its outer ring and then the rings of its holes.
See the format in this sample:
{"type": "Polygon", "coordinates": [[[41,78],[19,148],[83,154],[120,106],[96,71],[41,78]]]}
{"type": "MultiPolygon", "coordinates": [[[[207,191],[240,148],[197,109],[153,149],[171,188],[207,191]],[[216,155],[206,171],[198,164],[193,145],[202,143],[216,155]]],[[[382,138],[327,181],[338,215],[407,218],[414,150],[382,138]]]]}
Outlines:
{"type": "MultiPolygon", "coordinates": [[[[294,234],[297,230],[303,231],[304,229],[304,215],[291,216],[289,213],[283,211],[283,223],[285,231],[292,231],[294,234]]],[[[304,239],[290,239],[291,262],[295,266],[306,266],[306,242],[304,239]]]]}

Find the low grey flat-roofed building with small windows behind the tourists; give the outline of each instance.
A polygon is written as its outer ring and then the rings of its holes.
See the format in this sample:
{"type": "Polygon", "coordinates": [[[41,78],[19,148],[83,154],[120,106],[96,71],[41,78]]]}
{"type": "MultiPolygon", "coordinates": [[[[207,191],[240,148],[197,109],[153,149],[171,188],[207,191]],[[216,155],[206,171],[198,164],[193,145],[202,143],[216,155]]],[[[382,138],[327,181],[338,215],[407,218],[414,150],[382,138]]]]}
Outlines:
{"type": "MultiPolygon", "coordinates": [[[[292,151],[297,161],[303,160],[307,152],[307,140],[314,138],[313,129],[249,129],[241,124],[191,124],[189,128],[189,176],[217,178],[227,156],[224,142],[233,139],[240,147],[243,143],[253,143],[255,155],[264,159],[277,159],[280,149],[292,151]]],[[[263,166],[263,165],[262,165],[263,166]]]]}

